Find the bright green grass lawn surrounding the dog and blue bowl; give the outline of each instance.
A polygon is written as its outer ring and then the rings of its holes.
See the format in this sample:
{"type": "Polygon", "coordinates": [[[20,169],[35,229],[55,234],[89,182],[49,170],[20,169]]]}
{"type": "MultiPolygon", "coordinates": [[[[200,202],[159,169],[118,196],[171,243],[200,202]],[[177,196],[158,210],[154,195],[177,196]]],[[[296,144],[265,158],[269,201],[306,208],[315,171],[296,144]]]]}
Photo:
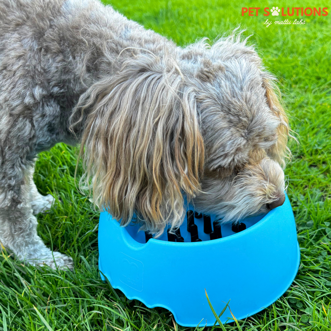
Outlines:
{"type": "MultiPolygon", "coordinates": [[[[299,146],[290,142],[294,157],[285,172],[301,264],[293,284],[275,304],[238,321],[239,326],[226,324],[225,329],[331,330],[330,16],[305,17],[304,25],[266,27],[261,12],[258,17],[241,16],[241,7],[247,7],[247,3],[118,0],[112,4],[130,19],[179,45],[204,36],[213,39],[237,24],[247,28],[246,35],[253,33],[250,42],[279,78],[291,126],[298,134],[299,146]]],[[[279,1],[277,6],[320,5],[279,1]]],[[[76,155],[75,148],[64,144],[40,154],[34,178],[42,194],[52,193],[60,199],[57,208],[38,215],[38,233],[54,250],[73,257],[75,271],[35,269],[5,254],[0,257],[0,330],[187,329],[173,324],[166,309],[148,309],[138,301],[127,300],[100,280],[98,213],[75,188],[76,155]]],[[[281,267],[275,265],[275,272],[281,267]]]]}

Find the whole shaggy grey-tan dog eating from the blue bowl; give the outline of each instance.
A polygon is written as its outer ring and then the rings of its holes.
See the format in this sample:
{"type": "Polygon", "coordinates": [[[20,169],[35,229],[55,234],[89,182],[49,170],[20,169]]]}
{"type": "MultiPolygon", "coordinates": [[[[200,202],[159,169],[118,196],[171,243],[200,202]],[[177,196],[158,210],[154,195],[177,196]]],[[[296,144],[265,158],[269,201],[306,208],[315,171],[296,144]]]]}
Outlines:
{"type": "Polygon", "coordinates": [[[246,41],[178,47],[97,0],[0,0],[0,240],[72,268],[37,235],[36,155],[81,143],[81,187],[122,225],[176,229],[184,201],[224,222],[284,196],[288,120],[246,41]],[[84,149],[85,147],[85,149],[84,149]]]}

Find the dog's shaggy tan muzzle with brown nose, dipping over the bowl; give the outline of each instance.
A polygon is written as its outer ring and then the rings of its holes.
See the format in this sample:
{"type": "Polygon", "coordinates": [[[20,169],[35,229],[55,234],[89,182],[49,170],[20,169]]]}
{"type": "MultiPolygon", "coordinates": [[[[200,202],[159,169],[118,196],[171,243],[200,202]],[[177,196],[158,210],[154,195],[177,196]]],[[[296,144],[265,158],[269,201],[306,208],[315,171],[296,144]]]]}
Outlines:
{"type": "Polygon", "coordinates": [[[255,150],[249,162],[238,168],[205,168],[202,192],[193,202],[198,211],[237,221],[282,205],[284,189],[282,168],[264,150],[255,150]]]}

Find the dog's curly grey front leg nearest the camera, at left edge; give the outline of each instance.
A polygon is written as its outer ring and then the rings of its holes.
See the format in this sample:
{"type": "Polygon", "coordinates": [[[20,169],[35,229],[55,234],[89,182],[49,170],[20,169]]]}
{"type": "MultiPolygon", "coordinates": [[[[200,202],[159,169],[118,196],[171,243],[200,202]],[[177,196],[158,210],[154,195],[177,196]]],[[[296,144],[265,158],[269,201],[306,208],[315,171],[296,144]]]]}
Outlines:
{"type": "Polygon", "coordinates": [[[13,173],[11,176],[6,176],[6,173],[0,176],[1,244],[26,263],[35,266],[47,264],[53,269],[72,269],[72,258],[52,252],[37,235],[37,219],[32,214],[30,203],[32,174],[33,167],[29,166],[16,173],[16,177],[13,173]]]}

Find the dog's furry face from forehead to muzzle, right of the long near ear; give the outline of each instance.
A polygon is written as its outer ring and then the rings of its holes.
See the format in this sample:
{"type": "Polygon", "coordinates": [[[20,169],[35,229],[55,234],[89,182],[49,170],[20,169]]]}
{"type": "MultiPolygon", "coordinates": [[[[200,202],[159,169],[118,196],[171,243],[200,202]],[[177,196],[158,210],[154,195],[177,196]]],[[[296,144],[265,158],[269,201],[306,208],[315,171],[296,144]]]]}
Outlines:
{"type": "Polygon", "coordinates": [[[279,163],[284,160],[287,118],[257,54],[244,47],[224,60],[227,46],[211,57],[209,77],[197,96],[205,164],[194,205],[234,221],[284,202],[279,163]]]}

